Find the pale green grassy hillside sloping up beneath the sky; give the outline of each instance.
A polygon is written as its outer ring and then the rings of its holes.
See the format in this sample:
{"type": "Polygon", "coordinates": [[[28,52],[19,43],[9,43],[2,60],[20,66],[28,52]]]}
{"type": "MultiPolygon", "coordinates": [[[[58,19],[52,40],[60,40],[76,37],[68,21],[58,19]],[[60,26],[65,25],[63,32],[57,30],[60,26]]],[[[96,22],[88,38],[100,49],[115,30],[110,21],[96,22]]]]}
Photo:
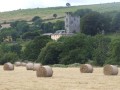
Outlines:
{"type": "Polygon", "coordinates": [[[0,22],[14,21],[14,20],[31,20],[34,16],[40,16],[43,19],[52,18],[54,13],[58,14],[58,17],[64,16],[65,12],[76,11],[77,9],[89,8],[99,12],[119,11],[120,3],[107,3],[107,4],[95,4],[95,5],[82,5],[72,7],[53,7],[53,8],[35,8],[35,9],[19,9],[9,12],[0,12],[0,22]]]}

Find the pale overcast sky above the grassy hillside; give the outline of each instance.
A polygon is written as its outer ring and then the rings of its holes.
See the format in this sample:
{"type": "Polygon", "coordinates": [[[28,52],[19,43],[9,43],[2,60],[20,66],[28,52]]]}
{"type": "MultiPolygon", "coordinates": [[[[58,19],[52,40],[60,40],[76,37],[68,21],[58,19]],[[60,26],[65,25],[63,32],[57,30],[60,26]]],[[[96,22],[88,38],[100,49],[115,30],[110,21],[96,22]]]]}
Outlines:
{"type": "Polygon", "coordinates": [[[74,6],[74,5],[120,2],[120,0],[1,0],[0,12],[37,7],[45,8],[65,6],[66,3],[68,2],[71,4],[71,6],[74,6]]]}

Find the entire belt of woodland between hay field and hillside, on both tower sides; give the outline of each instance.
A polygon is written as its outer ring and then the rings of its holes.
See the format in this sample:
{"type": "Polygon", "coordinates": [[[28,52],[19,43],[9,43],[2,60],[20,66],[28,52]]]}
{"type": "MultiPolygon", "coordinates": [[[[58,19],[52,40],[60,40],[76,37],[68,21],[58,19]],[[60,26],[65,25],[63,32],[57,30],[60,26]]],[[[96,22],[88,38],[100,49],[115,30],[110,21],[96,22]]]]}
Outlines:
{"type": "Polygon", "coordinates": [[[0,30],[0,64],[17,60],[42,64],[119,64],[120,40],[111,40],[106,34],[119,32],[120,13],[83,9],[73,14],[81,17],[81,33],[61,37],[57,42],[42,34],[64,29],[64,21],[45,23],[39,16],[35,16],[31,24],[26,21],[11,22],[10,28],[0,30]],[[11,43],[4,42],[7,36],[12,37],[11,43]]]}

